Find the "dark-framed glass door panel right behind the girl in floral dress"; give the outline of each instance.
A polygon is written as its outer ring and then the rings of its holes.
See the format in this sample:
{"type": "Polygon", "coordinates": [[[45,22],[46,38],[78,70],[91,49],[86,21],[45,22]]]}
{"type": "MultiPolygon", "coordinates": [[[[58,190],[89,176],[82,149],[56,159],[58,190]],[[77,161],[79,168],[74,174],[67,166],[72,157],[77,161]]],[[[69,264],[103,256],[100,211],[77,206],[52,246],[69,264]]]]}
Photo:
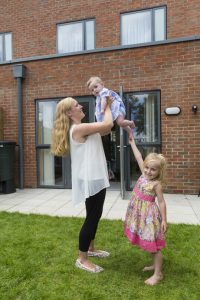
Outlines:
{"type": "MultiPolygon", "coordinates": [[[[160,92],[125,93],[127,115],[135,122],[134,137],[143,158],[150,152],[161,150],[160,92]]],[[[140,176],[139,166],[130,145],[126,148],[126,189],[132,190],[140,176]]]]}

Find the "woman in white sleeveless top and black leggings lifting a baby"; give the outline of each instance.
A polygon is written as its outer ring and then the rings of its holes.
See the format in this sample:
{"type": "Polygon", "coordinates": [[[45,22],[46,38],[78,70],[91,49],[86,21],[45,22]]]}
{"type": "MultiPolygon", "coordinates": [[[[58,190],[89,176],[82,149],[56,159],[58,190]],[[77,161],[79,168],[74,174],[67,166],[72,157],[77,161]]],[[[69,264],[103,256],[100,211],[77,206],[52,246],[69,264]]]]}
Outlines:
{"type": "Polygon", "coordinates": [[[106,257],[108,252],[96,250],[94,239],[102,215],[108,171],[101,135],[108,134],[113,126],[110,103],[103,122],[81,123],[85,114],[73,98],[61,100],[56,108],[52,136],[52,153],[63,156],[70,150],[72,166],[72,200],[85,202],[86,219],[79,233],[79,256],[76,267],[98,273],[103,268],[88,257],[106,257]]]}

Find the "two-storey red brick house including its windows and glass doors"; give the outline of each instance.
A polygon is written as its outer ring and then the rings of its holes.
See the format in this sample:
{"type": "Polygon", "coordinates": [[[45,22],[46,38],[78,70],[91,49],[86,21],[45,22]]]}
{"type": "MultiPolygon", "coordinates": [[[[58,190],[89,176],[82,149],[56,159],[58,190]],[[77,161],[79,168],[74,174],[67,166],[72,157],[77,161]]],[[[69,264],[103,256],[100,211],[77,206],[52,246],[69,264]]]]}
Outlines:
{"type": "MultiPolygon", "coordinates": [[[[0,11],[3,139],[23,153],[18,185],[71,187],[69,157],[49,151],[53,115],[73,96],[94,121],[86,82],[97,75],[123,97],[143,155],[166,156],[165,192],[199,192],[199,0],[19,0],[0,11]]],[[[104,146],[111,187],[130,190],[139,171],[126,133],[115,125],[104,146]]]]}

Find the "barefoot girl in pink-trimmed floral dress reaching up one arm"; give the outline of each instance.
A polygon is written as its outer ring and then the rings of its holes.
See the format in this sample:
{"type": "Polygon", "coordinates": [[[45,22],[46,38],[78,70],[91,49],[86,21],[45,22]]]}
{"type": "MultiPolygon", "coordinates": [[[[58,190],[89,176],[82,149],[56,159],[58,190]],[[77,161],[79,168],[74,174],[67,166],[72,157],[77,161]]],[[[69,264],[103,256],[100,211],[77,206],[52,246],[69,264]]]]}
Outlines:
{"type": "Polygon", "coordinates": [[[154,271],[145,283],[155,285],[163,278],[161,249],[165,247],[167,216],[162,182],[166,160],[162,154],[150,153],[143,161],[134,138],[129,141],[142,175],[128,204],[124,232],[132,244],[152,253],[153,264],[145,267],[143,271],[154,271]]]}

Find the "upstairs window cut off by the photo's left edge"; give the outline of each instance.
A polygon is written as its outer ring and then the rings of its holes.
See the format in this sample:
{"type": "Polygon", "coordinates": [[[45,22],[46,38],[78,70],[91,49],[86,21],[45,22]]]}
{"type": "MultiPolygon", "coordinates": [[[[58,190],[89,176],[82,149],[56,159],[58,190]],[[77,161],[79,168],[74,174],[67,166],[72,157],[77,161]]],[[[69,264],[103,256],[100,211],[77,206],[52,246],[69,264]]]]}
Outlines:
{"type": "Polygon", "coordinates": [[[12,34],[0,33],[0,62],[12,59],[12,34]]]}

